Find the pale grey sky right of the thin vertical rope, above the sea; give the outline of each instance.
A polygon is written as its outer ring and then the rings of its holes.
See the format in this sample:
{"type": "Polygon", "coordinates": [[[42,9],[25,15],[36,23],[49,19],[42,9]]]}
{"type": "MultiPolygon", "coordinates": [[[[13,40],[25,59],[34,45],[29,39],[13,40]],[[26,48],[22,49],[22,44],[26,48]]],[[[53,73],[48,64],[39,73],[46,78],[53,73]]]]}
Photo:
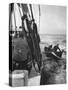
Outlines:
{"type": "Polygon", "coordinates": [[[40,9],[40,34],[66,34],[66,7],[41,5],[40,9]]]}

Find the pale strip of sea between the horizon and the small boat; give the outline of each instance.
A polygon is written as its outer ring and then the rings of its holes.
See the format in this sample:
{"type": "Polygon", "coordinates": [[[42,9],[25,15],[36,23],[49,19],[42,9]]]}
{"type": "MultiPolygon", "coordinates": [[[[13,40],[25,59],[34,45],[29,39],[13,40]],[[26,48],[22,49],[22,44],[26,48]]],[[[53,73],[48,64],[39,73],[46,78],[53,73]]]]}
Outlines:
{"type": "Polygon", "coordinates": [[[60,49],[64,49],[66,51],[66,35],[61,35],[61,34],[51,34],[51,35],[47,35],[47,34],[41,34],[40,35],[40,48],[41,51],[44,50],[45,46],[49,46],[52,45],[54,47],[54,45],[59,44],[60,49]]]}

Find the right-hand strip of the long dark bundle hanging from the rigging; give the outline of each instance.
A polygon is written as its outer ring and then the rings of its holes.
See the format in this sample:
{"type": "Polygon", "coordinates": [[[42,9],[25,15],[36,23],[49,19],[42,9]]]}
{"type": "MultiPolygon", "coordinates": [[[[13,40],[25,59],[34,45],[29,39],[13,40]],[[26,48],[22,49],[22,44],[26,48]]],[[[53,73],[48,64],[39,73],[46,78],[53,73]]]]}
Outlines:
{"type": "Polygon", "coordinates": [[[37,32],[37,25],[35,23],[35,20],[33,19],[33,36],[34,36],[34,42],[35,42],[35,48],[36,48],[36,59],[38,62],[38,67],[39,67],[39,71],[41,69],[41,65],[42,65],[42,55],[41,55],[41,50],[40,50],[40,37],[39,34],[37,32]]]}

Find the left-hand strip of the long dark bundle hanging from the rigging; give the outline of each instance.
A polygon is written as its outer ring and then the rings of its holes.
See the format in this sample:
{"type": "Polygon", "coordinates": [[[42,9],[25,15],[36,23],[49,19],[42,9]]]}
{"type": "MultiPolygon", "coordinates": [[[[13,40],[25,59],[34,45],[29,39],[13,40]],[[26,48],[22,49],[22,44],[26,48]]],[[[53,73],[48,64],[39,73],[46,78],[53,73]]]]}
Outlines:
{"type": "MultiPolygon", "coordinates": [[[[31,28],[31,24],[32,24],[32,21],[29,21],[28,18],[27,18],[27,15],[25,15],[25,20],[26,20],[26,25],[27,25],[27,42],[28,42],[28,45],[29,45],[29,48],[30,48],[30,51],[31,51],[31,54],[32,54],[32,58],[34,60],[35,56],[34,56],[34,47],[33,47],[33,41],[32,41],[32,38],[33,38],[33,31],[32,31],[32,28],[31,28]]],[[[34,38],[33,38],[34,39],[34,38]]]]}

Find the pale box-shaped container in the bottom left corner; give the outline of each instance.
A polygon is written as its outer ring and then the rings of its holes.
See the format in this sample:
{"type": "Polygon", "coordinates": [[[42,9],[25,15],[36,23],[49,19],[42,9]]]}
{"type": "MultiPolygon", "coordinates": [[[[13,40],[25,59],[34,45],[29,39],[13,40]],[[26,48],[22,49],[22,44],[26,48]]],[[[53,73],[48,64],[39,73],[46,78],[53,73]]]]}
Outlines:
{"type": "Polygon", "coordinates": [[[15,70],[9,74],[9,85],[12,87],[20,87],[28,85],[28,71],[15,70]]]}

